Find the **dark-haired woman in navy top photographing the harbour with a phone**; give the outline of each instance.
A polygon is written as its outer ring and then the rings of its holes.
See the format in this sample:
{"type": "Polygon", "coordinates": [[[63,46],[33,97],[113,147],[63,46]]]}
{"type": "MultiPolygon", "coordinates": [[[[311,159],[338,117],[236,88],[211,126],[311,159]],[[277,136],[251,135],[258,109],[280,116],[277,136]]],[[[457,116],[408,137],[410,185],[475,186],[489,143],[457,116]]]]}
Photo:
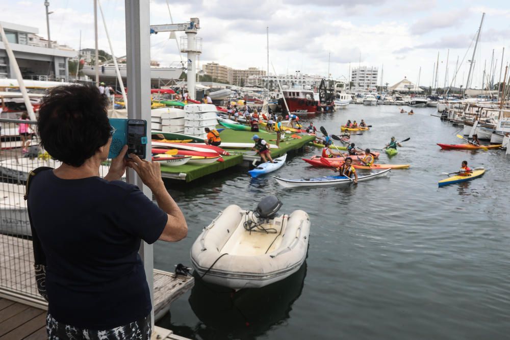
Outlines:
{"type": "Polygon", "coordinates": [[[48,301],[50,339],[150,339],[152,309],[141,241],[176,242],[186,219],[168,193],[158,162],[125,158],[127,145],[99,177],[115,129],[106,97],[94,86],[57,86],[43,97],[41,145],[57,169],[27,183],[36,280],[48,301]],[[121,180],[132,168],[154,194],[121,180]],[[152,196],[151,196],[152,197],[152,196]]]}

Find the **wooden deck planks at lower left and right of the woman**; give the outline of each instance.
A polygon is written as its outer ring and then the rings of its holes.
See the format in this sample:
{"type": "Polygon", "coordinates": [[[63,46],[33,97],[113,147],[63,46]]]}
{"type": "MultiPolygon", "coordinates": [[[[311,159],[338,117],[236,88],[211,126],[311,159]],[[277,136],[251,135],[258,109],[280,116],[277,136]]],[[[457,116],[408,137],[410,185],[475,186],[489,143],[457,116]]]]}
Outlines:
{"type": "MultiPolygon", "coordinates": [[[[32,241],[0,234],[0,340],[27,336],[29,339],[47,338],[47,303],[38,295],[33,263],[32,241]]],[[[155,319],[163,317],[170,303],[190,290],[193,284],[192,276],[155,269],[155,319]]],[[[165,334],[160,339],[177,338],[171,331],[158,327],[154,333],[165,334]]]]}

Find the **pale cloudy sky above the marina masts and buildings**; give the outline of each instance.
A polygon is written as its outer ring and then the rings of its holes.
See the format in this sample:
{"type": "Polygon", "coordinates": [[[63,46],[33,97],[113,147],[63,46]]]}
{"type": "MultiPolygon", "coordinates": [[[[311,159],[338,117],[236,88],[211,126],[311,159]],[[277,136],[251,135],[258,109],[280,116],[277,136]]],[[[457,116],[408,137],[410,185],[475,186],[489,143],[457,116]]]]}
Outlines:
{"type": "MultiPolygon", "coordinates": [[[[93,1],[49,0],[52,40],[79,47],[94,47],[93,1]]],[[[200,63],[214,61],[234,68],[267,68],[269,54],[277,73],[296,71],[348,77],[350,67],[380,68],[390,86],[403,77],[432,85],[433,64],[439,52],[439,85],[453,79],[458,57],[457,86],[466,82],[474,37],[482,12],[486,13],[475,56],[472,86],[481,87],[484,64],[489,73],[494,49],[495,82],[501,54],[510,61],[510,3],[507,0],[168,0],[173,22],[200,19],[203,38],[200,63]],[[470,48],[471,46],[471,48],[470,48]],[[468,50],[469,48],[469,50],[468,50]],[[361,56],[361,59],[360,59],[361,56]],[[360,61],[361,60],[361,61],[360,61]],[[462,62],[464,60],[464,62],[462,62]],[[464,79],[464,81],[463,81],[464,79]]],[[[125,54],[124,2],[101,0],[115,55],[125,54]]],[[[46,37],[44,0],[0,0],[0,20],[37,27],[46,37]]],[[[99,48],[109,51],[99,17],[99,48]]],[[[151,24],[170,23],[165,0],[150,1],[151,24]]],[[[177,33],[183,35],[184,33],[177,33]]],[[[162,64],[180,61],[175,40],[168,34],[151,36],[151,59],[162,64]]],[[[183,56],[186,60],[186,56],[183,56]]],[[[272,69],[270,70],[272,73],[272,69]]],[[[509,71],[510,72],[510,71],[509,71]]],[[[379,83],[380,83],[379,71],[379,83]]]]}

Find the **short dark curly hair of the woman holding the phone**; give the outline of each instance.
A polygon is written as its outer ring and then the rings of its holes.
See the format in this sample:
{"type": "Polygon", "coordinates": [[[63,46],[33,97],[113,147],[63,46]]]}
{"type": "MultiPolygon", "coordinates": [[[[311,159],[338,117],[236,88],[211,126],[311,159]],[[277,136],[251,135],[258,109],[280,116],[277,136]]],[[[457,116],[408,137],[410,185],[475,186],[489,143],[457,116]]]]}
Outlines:
{"type": "Polygon", "coordinates": [[[79,167],[110,138],[108,99],[95,86],[57,86],[41,101],[41,145],[56,160],[79,167]]]}

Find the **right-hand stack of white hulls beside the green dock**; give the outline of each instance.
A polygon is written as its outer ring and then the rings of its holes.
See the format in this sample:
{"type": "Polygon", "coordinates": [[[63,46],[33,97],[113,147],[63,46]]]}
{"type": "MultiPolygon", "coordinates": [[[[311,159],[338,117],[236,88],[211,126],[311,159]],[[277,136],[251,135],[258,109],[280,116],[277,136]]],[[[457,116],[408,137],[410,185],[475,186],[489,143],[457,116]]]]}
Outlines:
{"type": "Polygon", "coordinates": [[[216,128],[216,107],[213,104],[189,104],[184,107],[184,134],[207,138],[206,127],[216,128]]]}

